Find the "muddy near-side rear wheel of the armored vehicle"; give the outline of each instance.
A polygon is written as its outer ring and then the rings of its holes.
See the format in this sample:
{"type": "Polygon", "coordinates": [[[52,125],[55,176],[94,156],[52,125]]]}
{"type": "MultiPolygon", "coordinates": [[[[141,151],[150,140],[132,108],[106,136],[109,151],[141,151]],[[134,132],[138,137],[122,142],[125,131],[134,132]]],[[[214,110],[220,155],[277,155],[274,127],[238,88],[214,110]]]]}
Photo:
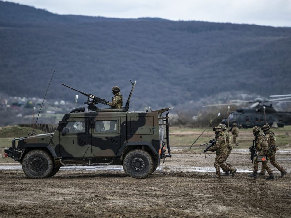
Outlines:
{"type": "Polygon", "coordinates": [[[142,179],[148,177],[154,168],[152,156],[145,150],[129,151],[123,159],[123,169],[130,177],[142,179]]]}

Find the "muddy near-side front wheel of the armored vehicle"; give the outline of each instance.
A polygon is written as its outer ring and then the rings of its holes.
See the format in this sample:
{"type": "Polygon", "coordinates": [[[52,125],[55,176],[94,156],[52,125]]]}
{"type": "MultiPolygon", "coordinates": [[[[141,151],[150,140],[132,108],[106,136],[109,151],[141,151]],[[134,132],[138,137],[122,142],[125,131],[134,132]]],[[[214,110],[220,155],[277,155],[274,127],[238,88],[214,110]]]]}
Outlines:
{"type": "Polygon", "coordinates": [[[32,150],[22,160],[22,170],[32,179],[48,177],[52,173],[52,157],[44,150],[32,150]]]}

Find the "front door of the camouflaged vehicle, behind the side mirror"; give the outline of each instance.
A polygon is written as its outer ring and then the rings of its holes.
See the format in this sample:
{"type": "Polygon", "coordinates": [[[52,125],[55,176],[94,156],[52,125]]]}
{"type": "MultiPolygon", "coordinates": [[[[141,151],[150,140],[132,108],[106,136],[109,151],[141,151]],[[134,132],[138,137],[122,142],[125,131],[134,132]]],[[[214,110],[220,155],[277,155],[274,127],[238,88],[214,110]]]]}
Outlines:
{"type": "Polygon", "coordinates": [[[84,157],[89,149],[88,119],[69,118],[60,133],[62,157],[84,157]]]}

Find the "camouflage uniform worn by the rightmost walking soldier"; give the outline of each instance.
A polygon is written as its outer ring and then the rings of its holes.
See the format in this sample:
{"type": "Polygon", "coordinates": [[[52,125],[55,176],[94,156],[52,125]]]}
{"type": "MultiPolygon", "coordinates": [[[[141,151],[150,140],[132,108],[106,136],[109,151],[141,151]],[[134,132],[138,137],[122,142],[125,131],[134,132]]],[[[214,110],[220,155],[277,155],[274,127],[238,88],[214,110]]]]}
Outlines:
{"type": "MultiPolygon", "coordinates": [[[[270,149],[273,151],[273,153],[268,154],[268,159],[270,159],[271,164],[276,167],[281,173],[283,173],[285,170],[283,167],[280,166],[280,164],[275,160],[275,154],[276,151],[279,150],[278,146],[276,145],[276,137],[275,134],[272,132],[271,129],[264,132],[266,141],[270,147],[270,149]]],[[[262,167],[260,174],[265,174],[266,170],[262,167]]]]}

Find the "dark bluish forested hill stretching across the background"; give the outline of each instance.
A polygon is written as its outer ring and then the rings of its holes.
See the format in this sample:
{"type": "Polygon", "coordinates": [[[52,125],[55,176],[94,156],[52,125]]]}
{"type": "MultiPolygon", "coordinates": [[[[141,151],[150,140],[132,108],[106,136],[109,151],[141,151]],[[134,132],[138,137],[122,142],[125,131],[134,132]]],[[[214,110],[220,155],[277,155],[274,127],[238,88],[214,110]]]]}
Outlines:
{"type": "Polygon", "coordinates": [[[132,109],[187,105],[220,92],[289,94],[291,28],[57,15],[0,1],[0,92],[73,99],[65,83],[132,109]],[[288,92],[288,93],[287,93],[288,92]]]}

